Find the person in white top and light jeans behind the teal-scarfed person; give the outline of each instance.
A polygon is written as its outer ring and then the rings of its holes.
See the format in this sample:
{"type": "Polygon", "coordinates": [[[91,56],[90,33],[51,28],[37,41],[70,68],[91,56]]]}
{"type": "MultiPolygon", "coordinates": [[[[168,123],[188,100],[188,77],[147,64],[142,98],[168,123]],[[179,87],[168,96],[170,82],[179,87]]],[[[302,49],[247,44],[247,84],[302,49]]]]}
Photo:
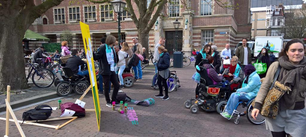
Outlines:
{"type": "Polygon", "coordinates": [[[120,81],[119,89],[123,89],[124,84],[123,84],[122,73],[123,73],[123,70],[125,69],[125,59],[129,57],[129,54],[124,52],[124,51],[119,50],[118,45],[114,46],[114,50],[115,50],[115,52],[118,53],[118,57],[119,57],[119,61],[116,65],[116,67],[115,67],[115,72],[119,76],[119,81],[120,81]]]}

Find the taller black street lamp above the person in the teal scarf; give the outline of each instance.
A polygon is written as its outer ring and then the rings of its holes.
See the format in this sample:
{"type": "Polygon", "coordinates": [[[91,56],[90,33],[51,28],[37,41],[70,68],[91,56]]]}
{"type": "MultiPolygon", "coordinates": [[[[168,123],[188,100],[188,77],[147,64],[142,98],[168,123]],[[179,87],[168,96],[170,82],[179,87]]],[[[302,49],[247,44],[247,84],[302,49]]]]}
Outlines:
{"type": "Polygon", "coordinates": [[[114,0],[110,2],[113,6],[115,13],[117,13],[118,17],[118,41],[121,40],[121,26],[120,26],[120,14],[123,13],[123,9],[125,7],[125,2],[122,0],[114,0]]]}

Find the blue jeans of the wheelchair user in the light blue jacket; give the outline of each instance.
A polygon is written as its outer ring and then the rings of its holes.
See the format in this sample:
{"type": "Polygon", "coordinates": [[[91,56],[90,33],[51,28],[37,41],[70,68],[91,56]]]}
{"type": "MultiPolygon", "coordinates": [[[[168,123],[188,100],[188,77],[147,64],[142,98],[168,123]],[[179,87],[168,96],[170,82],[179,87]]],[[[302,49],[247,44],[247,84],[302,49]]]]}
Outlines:
{"type": "Polygon", "coordinates": [[[228,112],[230,115],[233,114],[233,111],[239,101],[249,101],[249,99],[245,96],[239,96],[236,93],[232,93],[230,95],[229,101],[227,101],[225,111],[228,112]]]}

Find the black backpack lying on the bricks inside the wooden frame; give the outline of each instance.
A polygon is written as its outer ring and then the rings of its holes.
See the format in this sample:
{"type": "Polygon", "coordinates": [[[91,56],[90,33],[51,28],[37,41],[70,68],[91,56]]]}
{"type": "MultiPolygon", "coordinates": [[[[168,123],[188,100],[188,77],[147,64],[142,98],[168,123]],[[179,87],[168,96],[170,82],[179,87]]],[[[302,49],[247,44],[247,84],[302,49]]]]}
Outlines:
{"type": "Polygon", "coordinates": [[[25,120],[47,120],[51,113],[52,108],[49,105],[38,105],[34,109],[23,112],[22,120],[23,122],[25,120]]]}

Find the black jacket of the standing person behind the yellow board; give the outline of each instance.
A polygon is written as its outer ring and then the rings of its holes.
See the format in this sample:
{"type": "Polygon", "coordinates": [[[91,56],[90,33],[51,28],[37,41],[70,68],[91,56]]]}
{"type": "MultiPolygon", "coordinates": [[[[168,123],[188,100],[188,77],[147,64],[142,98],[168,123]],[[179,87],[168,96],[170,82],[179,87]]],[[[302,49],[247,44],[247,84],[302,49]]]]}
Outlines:
{"type": "MultiPolygon", "coordinates": [[[[111,49],[112,49],[113,54],[114,54],[114,61],[115,61],[115,63],[118,63],[118,61],[119,61],[118,54],[115,52],[113,47],[111,49]]],[[[110,64],[108,64],[108,62],[107,62],[105,44],[102,44],[99,47],[97,53],[93,52],[92,54],[93,54],[94,60],[99,60],[99,74],[110,75],[110,64]]]]}

